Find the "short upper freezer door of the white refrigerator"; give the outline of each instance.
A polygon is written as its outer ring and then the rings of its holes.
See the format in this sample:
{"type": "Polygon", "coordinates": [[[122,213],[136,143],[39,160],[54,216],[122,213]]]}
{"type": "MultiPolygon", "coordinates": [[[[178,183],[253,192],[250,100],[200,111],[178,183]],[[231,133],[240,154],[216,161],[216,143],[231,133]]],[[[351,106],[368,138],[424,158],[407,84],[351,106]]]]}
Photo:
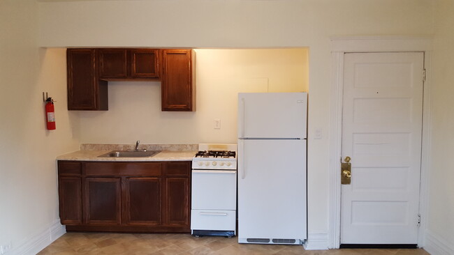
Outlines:
{"type": "Polygon", "coordinates": [[[307,93],[239,93],[240,138],[306,138],[307,93]]]}

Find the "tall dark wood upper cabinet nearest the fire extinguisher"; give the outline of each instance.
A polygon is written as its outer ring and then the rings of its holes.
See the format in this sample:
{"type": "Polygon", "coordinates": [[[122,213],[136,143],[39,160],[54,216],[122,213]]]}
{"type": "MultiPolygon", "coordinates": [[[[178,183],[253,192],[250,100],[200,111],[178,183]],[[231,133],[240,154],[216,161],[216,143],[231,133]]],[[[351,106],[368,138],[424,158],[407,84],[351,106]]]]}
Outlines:
{"type": "Polygon", "coordinates": [[[107,82],[98,79],[95,49],[68,49],[68,110],[108,110],[107,82]]]}

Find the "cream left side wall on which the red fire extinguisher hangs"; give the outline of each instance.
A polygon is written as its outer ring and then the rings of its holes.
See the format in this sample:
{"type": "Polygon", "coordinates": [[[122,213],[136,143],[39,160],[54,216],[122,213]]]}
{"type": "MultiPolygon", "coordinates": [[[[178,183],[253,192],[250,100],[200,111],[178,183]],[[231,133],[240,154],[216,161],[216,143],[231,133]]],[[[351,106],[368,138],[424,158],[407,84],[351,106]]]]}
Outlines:
{"type": "Polygon", "coordinates": [[[0,245],[12,244],[10,254],[37,235],[50,240],[58,219],[55,157],[78,148],[66,111],[66,58],[38,48],[36,8],[35,1],[0,1],[0,245]],[[43,91],[58,101],[54,131],[45,130],[43,91]]]}

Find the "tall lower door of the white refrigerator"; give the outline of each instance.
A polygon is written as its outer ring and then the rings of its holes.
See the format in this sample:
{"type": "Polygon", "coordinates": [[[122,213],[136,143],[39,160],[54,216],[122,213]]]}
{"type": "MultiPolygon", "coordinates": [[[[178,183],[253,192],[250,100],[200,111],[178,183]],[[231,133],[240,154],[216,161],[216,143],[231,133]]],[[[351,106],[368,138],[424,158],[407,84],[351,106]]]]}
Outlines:
{"type": "Polygon", "coordinates": [[[238,140],[238,242],[307,239],[306,140],[238,140]]]}

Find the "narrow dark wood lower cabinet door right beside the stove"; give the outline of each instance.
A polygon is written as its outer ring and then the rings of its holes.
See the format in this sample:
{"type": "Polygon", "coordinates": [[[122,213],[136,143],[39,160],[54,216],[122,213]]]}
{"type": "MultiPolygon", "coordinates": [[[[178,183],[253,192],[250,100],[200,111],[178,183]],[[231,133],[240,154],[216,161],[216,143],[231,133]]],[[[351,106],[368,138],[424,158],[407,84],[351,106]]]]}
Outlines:
{"type": "Polygon", "coordinates": [[[189,226],[189,178],[166,178],[166,224],[189,226]]]}

